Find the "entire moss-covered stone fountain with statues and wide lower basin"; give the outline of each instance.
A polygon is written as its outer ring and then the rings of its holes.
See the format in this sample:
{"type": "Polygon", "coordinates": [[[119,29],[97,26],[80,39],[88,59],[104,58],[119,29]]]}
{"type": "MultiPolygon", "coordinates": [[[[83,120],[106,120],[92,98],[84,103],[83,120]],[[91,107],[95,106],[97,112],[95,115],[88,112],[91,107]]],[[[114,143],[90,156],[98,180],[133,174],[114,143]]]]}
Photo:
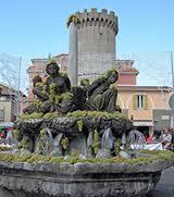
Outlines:
{"type": "Polygon", "coordinates": [[[0,155],[0,195],[140,196],[152,189],[173,159],[132,162],[137,158],[126,136],[133,125],[115,106],[116,70],[76,87],[54,61],[46,71],[46,81],[33,79],[37,99],[16,122],[16,146],[0,155]]]}

